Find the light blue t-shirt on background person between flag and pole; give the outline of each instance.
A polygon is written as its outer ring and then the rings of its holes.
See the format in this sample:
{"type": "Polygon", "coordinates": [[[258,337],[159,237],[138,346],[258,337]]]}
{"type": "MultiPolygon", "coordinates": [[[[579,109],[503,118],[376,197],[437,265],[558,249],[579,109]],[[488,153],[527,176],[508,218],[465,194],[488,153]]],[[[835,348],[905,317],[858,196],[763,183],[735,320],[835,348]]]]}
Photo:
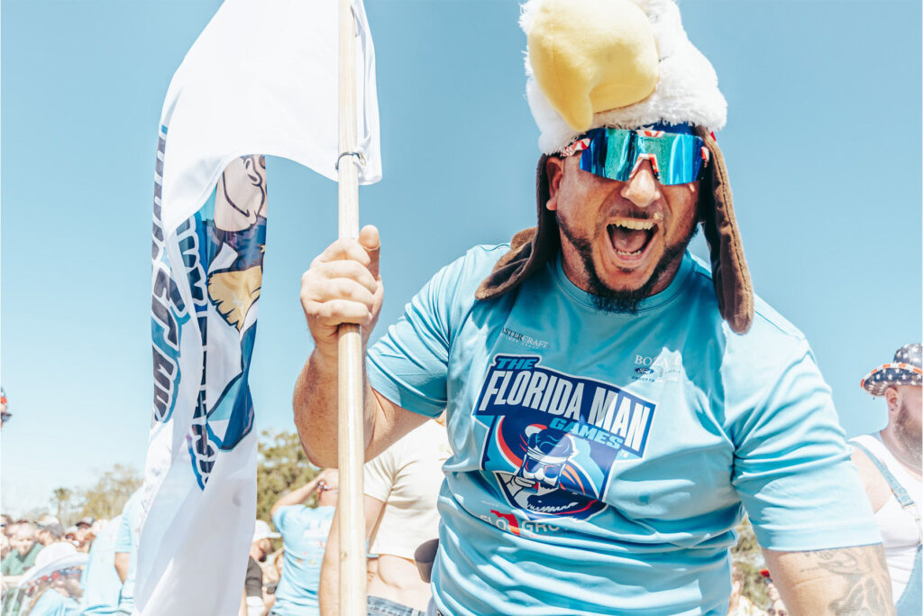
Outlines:
{"type": "Polygon", "coordinates": [[[272,524],[282,533],[282,578],[276,588],[273,614],[303,616],[319,614],[318,586],[320,565],[336,507],[305,505],[280,507],[272,515],[272,524]]]}

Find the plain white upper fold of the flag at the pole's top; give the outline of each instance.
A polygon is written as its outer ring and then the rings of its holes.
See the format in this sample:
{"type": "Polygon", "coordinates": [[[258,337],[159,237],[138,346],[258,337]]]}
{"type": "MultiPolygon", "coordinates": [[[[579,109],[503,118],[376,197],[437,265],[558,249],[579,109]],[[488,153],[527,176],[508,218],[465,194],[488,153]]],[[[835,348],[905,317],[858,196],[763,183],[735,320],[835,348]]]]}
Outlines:
{"type": "MultiPolygon", "coordinates": [[[[381,179],[375,49],[361,0],[353,10],[359,182],[373,184],[381,179]]],[[[234,156],[282,156],[336,181],[337,24],[336,0],[225,0],[163,104],[166,227],[198,209],[234,156]]]]}

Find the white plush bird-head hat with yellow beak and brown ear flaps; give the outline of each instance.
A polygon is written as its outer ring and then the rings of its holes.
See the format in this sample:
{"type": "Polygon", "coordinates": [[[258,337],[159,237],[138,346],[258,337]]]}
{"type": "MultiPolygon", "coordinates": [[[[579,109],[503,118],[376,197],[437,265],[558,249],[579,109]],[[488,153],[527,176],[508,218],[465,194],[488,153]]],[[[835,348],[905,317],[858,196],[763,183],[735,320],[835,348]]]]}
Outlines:
{"type": "Polygon", "coordinates": [[[529,0],[526,96],[540,130],[539,223],[513,238],[512,249],[477,291],[498,296],[557,254],[545,160],[597,127],[691,125],[711,153],[701,180],[701,223],[711,249],[718,306],[730,328],[747,332],[753,291],[734,217],[724,157],[713,132],[727,103],[714,68],[683,30],[672,0],[529,0]]]}

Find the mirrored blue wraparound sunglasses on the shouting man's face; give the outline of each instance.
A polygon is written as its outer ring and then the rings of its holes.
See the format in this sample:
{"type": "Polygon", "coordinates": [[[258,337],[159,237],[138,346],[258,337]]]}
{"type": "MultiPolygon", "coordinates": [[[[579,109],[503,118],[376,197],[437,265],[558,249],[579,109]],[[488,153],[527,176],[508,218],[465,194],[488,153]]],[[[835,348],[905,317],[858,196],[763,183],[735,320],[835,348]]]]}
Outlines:
{"type": "Polygon", "coordinates": [[[650,161],[653,175],[661,184],[700,180],[710,158],[705,141],[691,134],[688,126],[671,128],[688,132],[667,132],[659,127],[593,128],[561,154],[568,157],[580,153],[583,171],[621,182],[635,175],[644,161],[650,161]]]}

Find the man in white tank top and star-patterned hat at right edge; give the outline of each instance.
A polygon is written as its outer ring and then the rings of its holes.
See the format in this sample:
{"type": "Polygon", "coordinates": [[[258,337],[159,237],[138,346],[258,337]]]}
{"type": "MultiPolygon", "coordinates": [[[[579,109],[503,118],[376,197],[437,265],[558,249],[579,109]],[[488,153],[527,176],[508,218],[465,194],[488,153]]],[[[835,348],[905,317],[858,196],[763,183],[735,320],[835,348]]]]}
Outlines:
{"type": "Polygon", "coordinates": [[[875,368],[862,387],[888,405],[888,425],[852,442],[853,462],[881,526],[898,616],[921,610],[921,391],[923,346],[907,344],[890,364],[875,368]]]}

